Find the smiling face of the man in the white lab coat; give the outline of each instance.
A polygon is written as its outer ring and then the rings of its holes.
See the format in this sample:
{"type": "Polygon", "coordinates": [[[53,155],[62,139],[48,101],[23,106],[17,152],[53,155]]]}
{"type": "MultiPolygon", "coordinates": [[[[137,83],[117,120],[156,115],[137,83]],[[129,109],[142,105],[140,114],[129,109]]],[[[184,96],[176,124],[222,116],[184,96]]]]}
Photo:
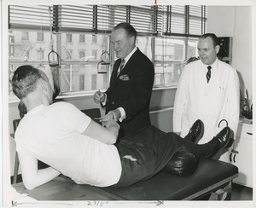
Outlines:
{"type": "Polygon", "coordinates": [[[197,44],[198,55],[205,65],[212,65],[217,58],[219,45],[213,46],[212,38],[200,39],[197,44]]]}

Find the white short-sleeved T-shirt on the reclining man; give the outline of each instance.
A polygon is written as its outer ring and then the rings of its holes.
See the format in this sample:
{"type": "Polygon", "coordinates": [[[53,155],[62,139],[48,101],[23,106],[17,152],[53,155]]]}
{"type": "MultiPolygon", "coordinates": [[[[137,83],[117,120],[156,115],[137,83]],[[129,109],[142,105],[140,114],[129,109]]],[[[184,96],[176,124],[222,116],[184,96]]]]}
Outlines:
{"type": "Polygon", "coordinates": [[[76,183],[113,185],[121,175],[118,150],[82,134],[90,121],[67,102],[38,106],[20,121],[15,132],[17,152],[28,153],[76,183]]]}

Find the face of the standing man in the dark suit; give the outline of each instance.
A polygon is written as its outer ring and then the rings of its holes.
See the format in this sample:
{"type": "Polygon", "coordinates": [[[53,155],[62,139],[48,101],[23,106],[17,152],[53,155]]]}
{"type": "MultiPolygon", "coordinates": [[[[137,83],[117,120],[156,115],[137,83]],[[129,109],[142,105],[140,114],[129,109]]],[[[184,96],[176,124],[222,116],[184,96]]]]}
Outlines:
{"type": "Polygon", "coordinates": [[[117,58],[124,59],[134,49],[134,37],[128,37],[125,29],[119,28],[111,34],[111,42],[117,58]]]}

